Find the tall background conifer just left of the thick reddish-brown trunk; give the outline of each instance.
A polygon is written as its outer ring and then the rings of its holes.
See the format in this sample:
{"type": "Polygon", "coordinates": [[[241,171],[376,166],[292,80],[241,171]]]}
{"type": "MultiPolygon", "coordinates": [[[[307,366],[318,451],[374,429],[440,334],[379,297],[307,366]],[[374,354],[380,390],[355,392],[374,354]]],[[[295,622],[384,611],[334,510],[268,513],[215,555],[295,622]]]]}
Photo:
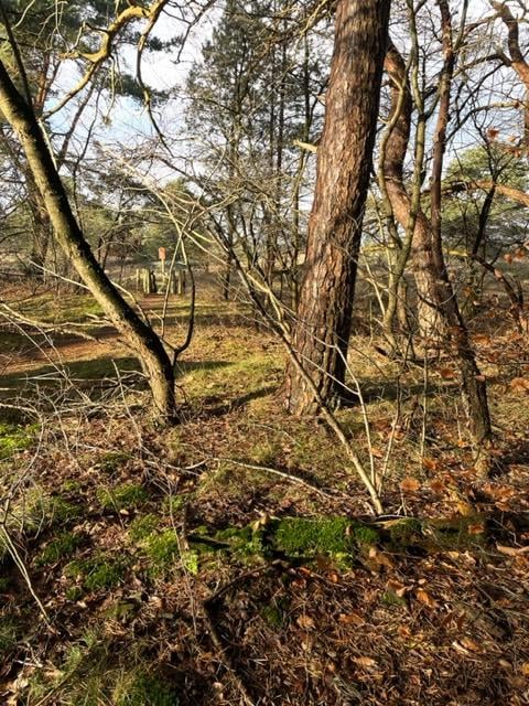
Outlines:
{"type": "Polygon", "coordinates": [[[222,204],[215,218],[227,245],[225,298],[233,247],[268,281],[279,268],[295,289],[307,159],[294,142],[317,129],[324,82],[312,39],[296,36],[296,22],[279,0],[231,0],[190,73],[187,121],[201,140],[198,159],[214,170],[198,181],[222,204]]]}

